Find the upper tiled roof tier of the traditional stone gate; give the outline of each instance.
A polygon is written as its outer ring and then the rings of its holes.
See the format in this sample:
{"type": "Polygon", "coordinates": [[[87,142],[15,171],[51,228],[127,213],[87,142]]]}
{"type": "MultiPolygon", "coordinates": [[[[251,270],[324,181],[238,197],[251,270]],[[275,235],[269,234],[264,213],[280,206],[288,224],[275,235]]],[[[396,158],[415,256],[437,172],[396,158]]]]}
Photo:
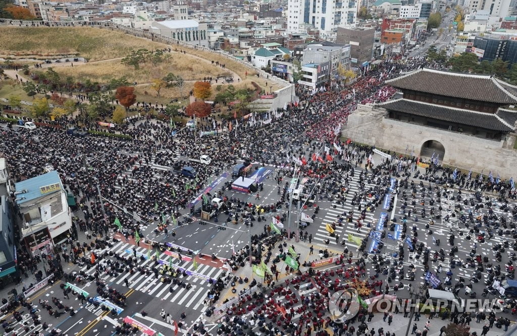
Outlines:
{"type": "Polygon", "coordinates": [[[517,104],[517,87],[490,75],[421,68],[385,82],[399,89],[497,104],[517,104]]]}

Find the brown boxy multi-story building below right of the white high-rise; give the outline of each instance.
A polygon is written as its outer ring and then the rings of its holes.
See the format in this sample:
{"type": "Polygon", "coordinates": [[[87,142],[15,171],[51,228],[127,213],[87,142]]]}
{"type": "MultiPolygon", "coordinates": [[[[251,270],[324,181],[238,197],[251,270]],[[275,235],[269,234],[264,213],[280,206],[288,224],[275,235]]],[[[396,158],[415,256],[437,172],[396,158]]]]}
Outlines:
{"type": "Polygon", "coordinates": [[[360,66],[372,59],[375,28],[338,27],[337,42],[350,45],[350,62],[352,67],[360,66]]]}

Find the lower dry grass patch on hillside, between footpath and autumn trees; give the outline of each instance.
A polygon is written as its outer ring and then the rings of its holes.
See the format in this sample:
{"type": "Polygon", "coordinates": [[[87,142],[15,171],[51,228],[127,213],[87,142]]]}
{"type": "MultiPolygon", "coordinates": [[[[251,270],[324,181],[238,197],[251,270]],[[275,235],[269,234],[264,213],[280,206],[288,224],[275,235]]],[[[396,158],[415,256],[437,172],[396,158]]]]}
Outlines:
{"type": "Polygon", "coordinates": [[[199,81],[203,77],[217,77],[227,73],[221,67],[193,58],[190,55],[172,53],[170,59],[158,63],[144,63],[139,69],[123,65],[119,59],[97,63],[86,63],[72,67],[55,67],[54,70],[63,76],[71,76],[75,81],[91,81],[108,83],[112,78],[125,76],[129,82],[150,83],[155,78],[163,78],[172,72],[185,81],[199,81]]]}

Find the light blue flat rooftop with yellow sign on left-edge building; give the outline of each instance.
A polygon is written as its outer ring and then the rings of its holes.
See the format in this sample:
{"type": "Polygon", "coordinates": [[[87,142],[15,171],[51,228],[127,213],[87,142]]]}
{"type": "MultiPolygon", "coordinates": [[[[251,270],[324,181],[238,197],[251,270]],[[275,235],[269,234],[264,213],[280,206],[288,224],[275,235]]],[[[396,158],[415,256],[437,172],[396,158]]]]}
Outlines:
{"type": "Polygon", "coordinates": [[[23,204],[63,190],[63,184],[61,183],[57,171],[52,170],[35,178],[15,183],[14,189],[16,191],[27,190],[26,193],[17,195],[18,198],[23,199],[16,201],[16,203],[23,204]],[[46,188],[43,189],[41,187],[46,188]]]}

